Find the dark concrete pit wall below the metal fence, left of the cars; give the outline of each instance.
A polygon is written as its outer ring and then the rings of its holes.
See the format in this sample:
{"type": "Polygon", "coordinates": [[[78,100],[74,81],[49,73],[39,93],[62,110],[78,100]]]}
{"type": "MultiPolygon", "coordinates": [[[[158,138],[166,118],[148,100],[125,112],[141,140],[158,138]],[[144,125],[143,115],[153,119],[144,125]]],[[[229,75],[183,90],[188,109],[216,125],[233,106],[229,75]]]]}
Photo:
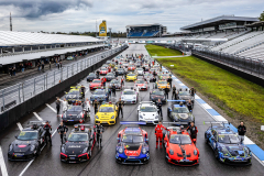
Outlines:
{"type": "MultiPolygon", "coordinates": [[[[121,52],[123,52],[123,51],[121,51],[121,52]]],[[[121,52],[119,52],[110,57],[105,58],[103,61],[101,61],[101,62],[90,66],[89,68],[84,69],[82,72],[74,75],[73,77],[62,81],[59,85],[56,85],[56,86],[36,95],[35,97],[32,97],[29,100],[14,106],[12,109],[7,110],[2,114],[0,114],[0,131],[4,130],[9,125],[18,122],[26,113],[32,112],[35,108],[44,105],[50,99],[54,99],[54,97],[56,97],[56,95],[58,95],[59,92],[63,92],[66,88],[70,87],[72,85],[75,85],[80,79],[85,78],[89,73],[99,68],[102,64],[105,64],[106,61],[116,57],[121,52]]]]}

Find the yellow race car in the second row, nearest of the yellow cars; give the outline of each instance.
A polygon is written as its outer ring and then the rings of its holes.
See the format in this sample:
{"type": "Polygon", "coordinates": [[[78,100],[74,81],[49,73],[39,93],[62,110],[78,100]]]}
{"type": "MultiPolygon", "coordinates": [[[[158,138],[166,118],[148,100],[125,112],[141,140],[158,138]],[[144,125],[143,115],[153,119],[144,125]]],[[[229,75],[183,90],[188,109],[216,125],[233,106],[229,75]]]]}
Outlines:
{"type": "Polygon", "coordinates": [[[101,124],[116,124],[118,117],[118,107],[112,103],[101,105],[98,112],[96,113],[95,121],[96,123],[100,122],[101,124]]]}

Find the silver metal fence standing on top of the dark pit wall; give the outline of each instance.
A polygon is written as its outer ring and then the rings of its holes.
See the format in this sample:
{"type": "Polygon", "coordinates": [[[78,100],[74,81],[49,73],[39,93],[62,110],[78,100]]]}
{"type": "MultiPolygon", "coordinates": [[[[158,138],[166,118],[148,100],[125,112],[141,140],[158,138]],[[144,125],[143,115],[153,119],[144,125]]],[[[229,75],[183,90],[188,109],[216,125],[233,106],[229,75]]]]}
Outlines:
{"type": "Polygon", "coordinates": [[[82,61],[69,64],[63,68],[47,74],[36,76],[34,78],[28,79],[23,82],[7,87],[0,90],[0,110],[4,112],[6,110],[12,108],[15,105],[22,103],[25,100],[34,97],[35,95],[47,90],[61,81],[73,77],[74,75],[82,72],[84,69],[101,62],[106,57],[109,57],[121,50],[127,47],[125,45],[111,48],[109,51],[89,56],[82,61]]]}

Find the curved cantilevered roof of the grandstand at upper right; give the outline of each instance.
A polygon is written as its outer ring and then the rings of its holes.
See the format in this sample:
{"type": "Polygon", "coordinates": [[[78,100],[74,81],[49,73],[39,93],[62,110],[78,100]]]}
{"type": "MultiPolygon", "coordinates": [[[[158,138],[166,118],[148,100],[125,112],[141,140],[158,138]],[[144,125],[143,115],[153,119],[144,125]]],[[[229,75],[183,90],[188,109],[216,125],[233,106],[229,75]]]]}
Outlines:
{"type": "Polygon", "coordinates": [[[234,16],[234,15],[221,15],[213,19],[205,20],[201,22],[197,22],[194,24],[189,24],[186,26],[180,28],[180,30],[194,30],[194,29],[201,29],[207,26],[213,26],[222,23],[228,22],[235,22],[235,21],[246,21],[246,22],[257,22],[257,18],[246,18],[246,16],[234,16]]]}

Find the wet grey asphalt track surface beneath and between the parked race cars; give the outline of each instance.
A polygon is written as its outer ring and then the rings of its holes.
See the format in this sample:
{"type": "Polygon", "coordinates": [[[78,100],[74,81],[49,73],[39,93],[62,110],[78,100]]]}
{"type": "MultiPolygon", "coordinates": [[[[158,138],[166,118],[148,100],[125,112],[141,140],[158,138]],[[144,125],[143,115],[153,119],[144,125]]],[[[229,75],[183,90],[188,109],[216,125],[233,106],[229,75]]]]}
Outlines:
{"type": "MultiPolygon", "coordinates": [[[[134,44],[131,45],[127,51],[122,53],[125,54],[147,54],[144,48],[144,45],[134,44]]],[[[86,79],[81,80],[80,84],[84,84],[88,87],[86,79]]],[[[177,85],[174,80],[173,82],[177,88],[180,86],[177,85]]],[[[125,82],[125,86],[133,86],[133,82],[125,82]]],[[[152,89],[152,82],[150,85],[152,89]]],[[[91,95],[90,91],[87,91],[86,98],[89,98],[91,95]]],[[[148,91],[140,92],[141,99],[144,101],[150,100],[148,91]]],[[[169,97],[172,92],[169,92],[169,97]]],[[[64,95],[61,95],[63,98],[64,95]]],[[[117,92],[117,98],[120,97],[120,91],[117,92]]],[[[53,109],[55,109],[55,98],[47,102],[53,109]]],[[[139,105],[139,103],[138,103],[139,105]]],[[[36,157],[33,162],[9,162],[8,161],[8,147],[9,144],[14,140],[14,135],[18,135],[20,129],[16,124],[10,127],[1,134],[1,147],[4,157],[4,163],[7,166],[8,174],[10,176],[18,175],[31,175],[31,176],[46,176],[46,175],[56,175],[56,176],[77,176],[77,175],[201,175],[201,176],[240,176],[240,175],[251,175],[251,176],[263,176],[264,167],[253,157],[251,166],[229,166],[219,163],[213,156],[212,150],[205,143],[204,134],[209,125],[204,124],[204,121],[212,121],[212,118],[199,106],[195,105],[194,116],[196,117],[196,125],[199,130],[197,146],[200,151],[200,164],[194,167],[179,167],[165,162],[165,150],[155,148],[155,134],[154,125],[141,127],[146,130],[150,139],[150,163],[146,165],[120,165],[116,163],[116,145],[117,145],[117,135],[120,130],[125,128],[119,123],[120,120],[125,121],[138,121],[136,108],[138,105],[125,105],[124,106],[124,117],[118,120],[117,124],[112,127],[106,127],[106,131],[102,135],[102,148],[99,151],[98,147],[95,147],[92,155],[89,162],[81,164],[65,164],[59,160],[61,152],[61,139],[59,135],[55,132],[52,140],[53,146],[45,146],[41,155],[36,157]]],[[[163,106],[163,117],[164,121],[169,121],[167,118],[167,105],[163,106]]],[[[56,117],[54,110],[48,106],[43,105],[35,110],[37,114],[43,120],[52,121],[53,132],[56,130],[59,124],[59,119],[56,117]]],[[[38,120],[34,113],[31,113],[24,117],[21,120],[22,127],[26,127],[28,122],[31,120],[38,120]]],[[[87,123],[94,123],[94,109],[91,110],[91,121],[87,123]]],[[[68,125],[69,129],[73,129],[73,125],[68,125]]],[[[69,132],[68,132],[69,133],[69,132]]]]}

